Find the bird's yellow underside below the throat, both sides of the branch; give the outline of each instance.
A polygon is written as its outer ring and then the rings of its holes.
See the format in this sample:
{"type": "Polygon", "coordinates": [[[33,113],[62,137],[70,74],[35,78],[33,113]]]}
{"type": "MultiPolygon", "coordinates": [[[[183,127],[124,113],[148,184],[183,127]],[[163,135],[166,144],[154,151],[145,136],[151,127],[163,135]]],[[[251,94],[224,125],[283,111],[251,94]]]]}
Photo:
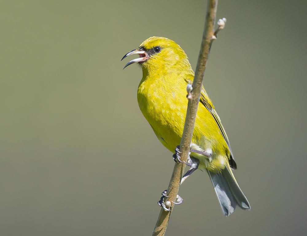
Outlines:
{"type": "MultiPolygon", "coordinates": [[[[179,84],[178,81],[177,83],[167,82],[142,79],[138,88],[138,104],[160,142],[174,152],[181,141],[188,100],[184,80],[179,84]]],[[[212,150],[212,160],[209,162],[205,156],[191,154],[200,159],[200,168],[219,170],[225,167],[227,144],[214,118],[202,105],[197,111],[192,145],[202,151],[212,150]]]]}

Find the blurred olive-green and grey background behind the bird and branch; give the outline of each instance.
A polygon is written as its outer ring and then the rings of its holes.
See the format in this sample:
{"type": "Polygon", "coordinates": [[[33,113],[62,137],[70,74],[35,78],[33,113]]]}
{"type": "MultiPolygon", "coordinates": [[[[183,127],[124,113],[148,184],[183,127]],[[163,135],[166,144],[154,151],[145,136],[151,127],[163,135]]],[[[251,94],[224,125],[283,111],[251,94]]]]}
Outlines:
{"type": "MultiPolygon", "coordinates": [[[[151,235],[172,153],[139,111],[150,36],[192,67],[206,1],[1,1],[0,235],[151,235]]],[[[220,1],[205,88],[251,203],[223,216],[206,173],[180,188],[167,235],[307,230],[306,1],[220,1]]]]}

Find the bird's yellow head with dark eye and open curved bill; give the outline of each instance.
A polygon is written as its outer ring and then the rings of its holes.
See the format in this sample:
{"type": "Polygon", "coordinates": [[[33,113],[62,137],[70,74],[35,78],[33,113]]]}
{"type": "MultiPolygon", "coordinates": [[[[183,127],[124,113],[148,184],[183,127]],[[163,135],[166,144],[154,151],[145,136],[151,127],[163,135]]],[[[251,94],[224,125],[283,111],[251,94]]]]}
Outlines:
{"type": "Polygon", "coordinates": [[[191,68],[188,62],[188,57],[183,49],[173,40],[164,37],[150,37],[139,46],[138,49],[127,53],[123,58],[133,54],[139,54],[139,58],[129,61],[124,69],[133,63],[138,62],[143,70],[170,70],[172,67],[188,67],[191,68]]]}

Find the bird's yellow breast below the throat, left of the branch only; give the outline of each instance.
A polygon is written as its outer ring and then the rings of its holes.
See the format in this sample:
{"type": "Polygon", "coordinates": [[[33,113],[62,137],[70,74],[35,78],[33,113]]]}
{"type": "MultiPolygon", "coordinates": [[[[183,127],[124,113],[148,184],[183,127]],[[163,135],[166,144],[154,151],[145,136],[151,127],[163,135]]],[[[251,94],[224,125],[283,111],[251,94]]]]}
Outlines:
{"type": "Polygon", "coordinates": [[[188,104],[185,86],[158,77],[143,79],[138,87],[139,107],[158,138],[169,144],[169,149],[178,145],[177,139],[180,142],[183,132],[188,104]]]}

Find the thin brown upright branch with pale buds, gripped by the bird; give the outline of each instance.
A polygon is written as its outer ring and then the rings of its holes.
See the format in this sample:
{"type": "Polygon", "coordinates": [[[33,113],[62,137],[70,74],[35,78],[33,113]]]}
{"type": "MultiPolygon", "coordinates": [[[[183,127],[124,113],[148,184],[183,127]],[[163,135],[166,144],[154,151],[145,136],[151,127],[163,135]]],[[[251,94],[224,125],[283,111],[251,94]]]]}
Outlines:
{"type": "MultiPolygon", "coordinates": [[[[192,141],[196,112],[198,108],[198,102],[200,99],[200,91],[203,84],[204,72],[208,60],[208,55],[210,52],[210,47],[212,41],[216,39],[217,31],[222,29],[220,28],[221,27],[220,26],[216,32],[214,31],[217,2],[218,0],[208,0],[204,33],[200,45],[200,52],[198,55],[195,76],[192,84],[192,91],[189,91],[191,92],[191,94],[188,94],[188,109],[185,118],[185,127],[183,129],[183,134],[180,143],[181,160],[185,162],[188,159],[188,153],[192,141]]],[[[188,87],[188,90],[191,90],[191,88],[188,87]]],[[[185,164],[175,163],[173,174],[167,190],[167,195],[169,196],[169,198],[165,199],[165,203],[167,203],[167,205],[170,205],[170,209],[173,209],[174,206],[173,201],[175,201],[176,196],[178,194],[180,181],[184,169],[185,169],[185,164]]],[[[171,212],[172,211],[165,211],[163,210],[163,208],[161,208],[155,229],[153,230],[152,234],[153,236],[163,236],[165,234],[171,212]]]]}

